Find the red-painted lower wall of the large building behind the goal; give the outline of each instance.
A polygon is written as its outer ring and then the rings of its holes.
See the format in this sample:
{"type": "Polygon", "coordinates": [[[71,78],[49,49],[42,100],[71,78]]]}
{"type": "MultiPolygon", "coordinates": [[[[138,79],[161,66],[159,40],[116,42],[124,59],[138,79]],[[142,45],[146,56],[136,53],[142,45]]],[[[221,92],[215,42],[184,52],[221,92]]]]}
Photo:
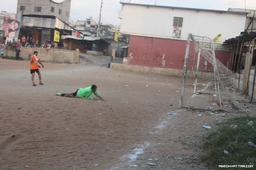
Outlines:
{"type": "MultiPolygon", "coordinates": [[[[128,60],[124,64],[183,70],[186,43],[179,39],[130,35],[128,60]]],[[[215,50],[215,56],[227,66],[230,51],[215,50]]],[[[201,64],[204,65],[204,61],[201,64]]]]}

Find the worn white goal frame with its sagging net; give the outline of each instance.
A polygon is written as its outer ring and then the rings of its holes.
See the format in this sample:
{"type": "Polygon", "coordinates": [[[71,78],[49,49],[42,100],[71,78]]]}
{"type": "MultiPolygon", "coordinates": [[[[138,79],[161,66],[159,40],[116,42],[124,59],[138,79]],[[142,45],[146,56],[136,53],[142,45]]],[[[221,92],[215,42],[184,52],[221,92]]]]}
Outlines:
{"type": "Polygon", "coordinates": [[[236,105],[237,97],[234,74],[215,58],[212,40],[189,34],[178,107],[236,105]],[[202,106],[208,99],[208,105],[202,106]]]}

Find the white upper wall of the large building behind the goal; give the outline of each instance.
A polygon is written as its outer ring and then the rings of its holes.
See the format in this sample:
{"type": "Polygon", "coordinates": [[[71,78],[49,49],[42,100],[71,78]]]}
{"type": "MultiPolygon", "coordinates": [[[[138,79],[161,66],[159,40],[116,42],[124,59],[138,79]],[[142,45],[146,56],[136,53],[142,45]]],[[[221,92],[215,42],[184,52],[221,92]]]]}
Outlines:
{"type": "Polygon", "coordinates": [[[214,39],[221,33],[218,43],[240,35],[246,22],[244,13],[133,4],[124,4],[120,16],[122,34],[172,39],[173,18],[182,17],[183,25],[179,39],[187,39],[188,33],[214,39]]]}

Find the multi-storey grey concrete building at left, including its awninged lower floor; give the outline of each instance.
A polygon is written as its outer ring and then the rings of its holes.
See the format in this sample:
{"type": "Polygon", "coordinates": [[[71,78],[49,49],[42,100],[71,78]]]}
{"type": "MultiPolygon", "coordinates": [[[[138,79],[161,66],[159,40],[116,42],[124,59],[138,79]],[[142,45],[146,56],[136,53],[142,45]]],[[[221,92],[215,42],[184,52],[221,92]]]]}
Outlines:
{"type": "MultiPolygon", "coordinates": [[[[20,34],[38,40],[39,45],[46,39],[53,41],[54,31],[72,35],[69,25],[71,0],[18,0],[17,14],[22,15],[20,34]]],[[[56,42],[58,43],[58,42],[56,42]]],[[[60,46],[62,42],[60,42],[60,46]]]]}

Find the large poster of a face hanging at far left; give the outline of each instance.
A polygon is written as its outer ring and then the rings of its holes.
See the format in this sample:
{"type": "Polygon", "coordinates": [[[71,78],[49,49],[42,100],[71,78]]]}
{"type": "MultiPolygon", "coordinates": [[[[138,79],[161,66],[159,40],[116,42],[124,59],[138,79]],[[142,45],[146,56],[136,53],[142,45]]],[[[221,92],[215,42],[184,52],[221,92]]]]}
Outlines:
{"type": "Polygon", "coordinates": [[[21,14],[4,15],[4,35],[7,38],[17,39],[20,33],[21,14]]]}

